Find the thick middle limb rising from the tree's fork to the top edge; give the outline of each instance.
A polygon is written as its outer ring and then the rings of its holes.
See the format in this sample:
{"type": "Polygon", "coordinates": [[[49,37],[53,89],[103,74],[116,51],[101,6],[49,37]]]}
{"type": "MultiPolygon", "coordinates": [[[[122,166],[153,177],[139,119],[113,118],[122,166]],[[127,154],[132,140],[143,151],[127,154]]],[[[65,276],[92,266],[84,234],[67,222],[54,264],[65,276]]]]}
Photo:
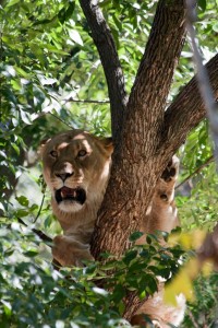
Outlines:
{"type": "Polygon", "coordinates": [[[126,113],[125,131],[142,125],[145,140],[147,133],[157,142],[164,124],[164,113],[174,68],[185,38],[185,7],[183,0],[158,2],[149,39],[133,85],[126,113]],[[136,118],[137,117],[137,118],[136,118]],[[131,119],[134,120],[132,125],[131,119]],[[131,122],[130,126],[128,122],[131,122]]]}

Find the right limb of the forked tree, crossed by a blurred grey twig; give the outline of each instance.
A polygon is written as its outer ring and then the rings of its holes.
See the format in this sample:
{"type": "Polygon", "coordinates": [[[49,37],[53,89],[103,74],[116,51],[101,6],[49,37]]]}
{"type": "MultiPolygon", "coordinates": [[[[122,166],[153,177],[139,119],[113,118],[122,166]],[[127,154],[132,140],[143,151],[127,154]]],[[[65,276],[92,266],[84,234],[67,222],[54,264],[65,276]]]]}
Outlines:
{"type": "MultiPolygon", "coordinates": [[[[218,99],[218,54],[206,65],[214,97],[218,99]]],[[[198,83],[194,77],[180,92],[165,113],[165,128],[159,152],[173,154],[184,142],[187,133],[206,116],[198,83]]]]}

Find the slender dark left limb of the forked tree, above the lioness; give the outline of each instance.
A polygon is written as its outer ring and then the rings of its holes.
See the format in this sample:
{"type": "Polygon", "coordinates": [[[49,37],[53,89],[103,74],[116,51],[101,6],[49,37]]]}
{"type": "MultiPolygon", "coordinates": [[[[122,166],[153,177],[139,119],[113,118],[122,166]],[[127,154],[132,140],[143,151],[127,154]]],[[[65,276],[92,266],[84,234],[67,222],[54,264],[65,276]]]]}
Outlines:
{"type": "Polygon", "coordinates": [[[80,3],[90,27],[92,37],[104,67],[110,98],[112,137],[114,142],[117,142],[117,136],[122,128],[123,113],[128,103],[124,77],[112,34],[98,7],[98,0],[80,0],[80,3]]]}

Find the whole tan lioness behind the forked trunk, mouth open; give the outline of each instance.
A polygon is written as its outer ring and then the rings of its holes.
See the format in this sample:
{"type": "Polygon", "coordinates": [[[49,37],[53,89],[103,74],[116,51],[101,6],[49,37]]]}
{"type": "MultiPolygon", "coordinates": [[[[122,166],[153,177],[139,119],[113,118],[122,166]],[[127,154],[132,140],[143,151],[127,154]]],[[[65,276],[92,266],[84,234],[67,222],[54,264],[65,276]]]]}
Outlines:
{"type": "MultiPolygon", "coordinates": [[[[53,258],[61,266],[80,266],[84,259],[92,259],[89,241],[108,184],[112,151],[110,138],[98,139],[82,130],[60,133],[41,144],[44,177],[51,190],[53,213],[63,230],[63,235],[55,237],[52,247],[53,258]]],[[[178,171],[179,160],[173,156],[157,184],[142,232],[170,232],[178,225],[174,206],[178,171]]],[[[144,243],[144,238],[138,243],[144,243]]],[[[157,318],[160,327],[165,327],[166,320],[179,323],[181,311],[177,309],[175,320],[172,308],[162,304],[160,293],[143,305],[135,323],[146,325],[142,313],[157,318]]]]}

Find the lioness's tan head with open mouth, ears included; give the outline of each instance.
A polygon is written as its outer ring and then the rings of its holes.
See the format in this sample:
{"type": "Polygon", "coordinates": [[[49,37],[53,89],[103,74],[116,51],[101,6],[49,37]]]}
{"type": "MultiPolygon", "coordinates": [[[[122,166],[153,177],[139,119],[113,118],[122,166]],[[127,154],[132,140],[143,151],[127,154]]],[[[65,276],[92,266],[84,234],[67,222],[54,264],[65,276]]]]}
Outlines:
{"type": "Polygon", "coordinates": [[[80,211],[105,192],[111,153],[111,139],[100,140],[81,130],[41,144],[44,178],[61,211],[80,211]]]}

